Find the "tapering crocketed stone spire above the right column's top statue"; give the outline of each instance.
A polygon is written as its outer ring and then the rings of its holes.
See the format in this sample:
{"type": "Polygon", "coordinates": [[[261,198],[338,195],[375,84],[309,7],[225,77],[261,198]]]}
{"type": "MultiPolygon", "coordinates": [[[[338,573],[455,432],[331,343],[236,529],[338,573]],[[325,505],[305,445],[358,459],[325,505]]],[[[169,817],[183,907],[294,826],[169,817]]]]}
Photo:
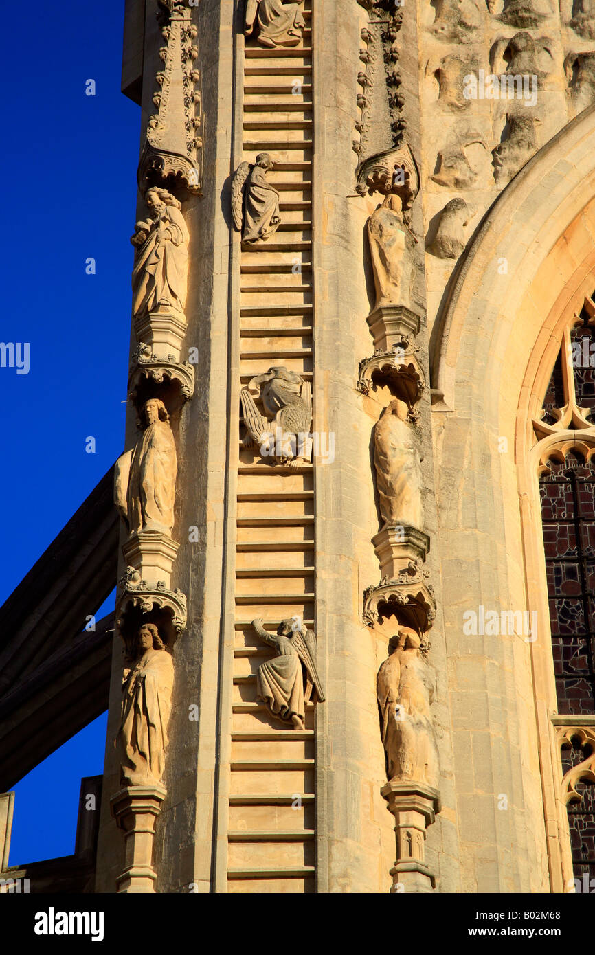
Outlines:
{"type": "Polygon", "coordinates": [[[401,76],[398,71],[396,38],[403,14],[393,0],[357,0],[368,11],[368,27],[361,32],[366,44],[360,50],[365,70],[357,74],[362,92],[356,98],[361,116],[355,124],[359,140],[353,141],[353,150],[360,170],[367,159],[384,154],[401,141],[405,129],[403,99],[399,92],[401,76]]]}

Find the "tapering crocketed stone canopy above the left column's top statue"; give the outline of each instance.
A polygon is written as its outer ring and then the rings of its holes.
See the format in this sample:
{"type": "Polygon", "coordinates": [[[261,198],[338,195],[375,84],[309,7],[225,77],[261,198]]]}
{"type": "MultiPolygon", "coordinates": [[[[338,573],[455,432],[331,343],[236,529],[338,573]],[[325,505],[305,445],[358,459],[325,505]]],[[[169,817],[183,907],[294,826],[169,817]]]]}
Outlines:
{"type": "Polygon", "coordinates": [[[165,46],[159,50],[163,69],[153,96],[158,113],[149,118],[138,164],[138,186],[146,192],[164,186],[182,201],[202,188],[201,74],[194,66],[199,50],[192,10],[175,0],[158,0],[158,19],[165,46]]]}

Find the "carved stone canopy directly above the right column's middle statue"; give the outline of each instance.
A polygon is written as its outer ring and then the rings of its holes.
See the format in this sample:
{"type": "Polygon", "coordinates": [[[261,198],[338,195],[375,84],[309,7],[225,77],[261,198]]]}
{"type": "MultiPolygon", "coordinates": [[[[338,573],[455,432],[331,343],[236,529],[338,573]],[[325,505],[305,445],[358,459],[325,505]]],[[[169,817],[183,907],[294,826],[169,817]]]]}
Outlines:
{"type": "Polygon", "coordinates": [[[387,385],[395,397],[404,401],[408,408],[410,421],[416,421],[419,412],[415,405],[421,398],[425,379],[421,366],[414,355],[418,348],[410,341],[403,340],[400,346],[391,351],[376,349],[371,358],[359,363],[357,390],[368,394],[373,385],[387,385]]]}

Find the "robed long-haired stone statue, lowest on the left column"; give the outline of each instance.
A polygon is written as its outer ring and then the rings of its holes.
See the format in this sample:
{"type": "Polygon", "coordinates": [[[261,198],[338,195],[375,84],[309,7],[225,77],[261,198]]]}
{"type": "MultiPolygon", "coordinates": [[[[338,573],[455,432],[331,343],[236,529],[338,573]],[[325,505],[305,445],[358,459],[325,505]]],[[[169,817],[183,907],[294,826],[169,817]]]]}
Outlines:
{"type": "Polygon", "coordinates": [[[124,786],[154,786],[163,775],[174,664],[155,624],[140,626],[135,661],[124,670],[118,744],[124,786]]]}

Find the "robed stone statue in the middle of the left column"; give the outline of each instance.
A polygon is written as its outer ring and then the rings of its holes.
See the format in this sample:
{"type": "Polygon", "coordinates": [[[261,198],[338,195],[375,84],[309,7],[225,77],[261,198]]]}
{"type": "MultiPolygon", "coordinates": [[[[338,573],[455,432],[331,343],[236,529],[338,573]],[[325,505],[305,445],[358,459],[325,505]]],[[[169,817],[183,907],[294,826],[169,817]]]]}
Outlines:
{"type": "Polygon", "coordinates": [[[117,458],[115,500],[130,535],[138,531],[171,534],[174,526],[176,443],[169,414],[159,398],[146,402],[145,430],[131,451],[117,458]]]}

